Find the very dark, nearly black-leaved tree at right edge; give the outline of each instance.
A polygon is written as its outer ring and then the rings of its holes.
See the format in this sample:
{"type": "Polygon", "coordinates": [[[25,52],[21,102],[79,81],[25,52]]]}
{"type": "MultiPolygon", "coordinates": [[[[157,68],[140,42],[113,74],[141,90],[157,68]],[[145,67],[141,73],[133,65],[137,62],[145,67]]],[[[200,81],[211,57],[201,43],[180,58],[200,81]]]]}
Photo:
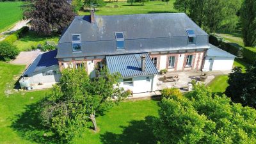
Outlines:
{"type": "Polygon", "coordinates": [[[225,94],[233,102],[256,108],[256,63],[248,67],[245,73],[241,67],[236,67],[228,77],[225,94]]]}

